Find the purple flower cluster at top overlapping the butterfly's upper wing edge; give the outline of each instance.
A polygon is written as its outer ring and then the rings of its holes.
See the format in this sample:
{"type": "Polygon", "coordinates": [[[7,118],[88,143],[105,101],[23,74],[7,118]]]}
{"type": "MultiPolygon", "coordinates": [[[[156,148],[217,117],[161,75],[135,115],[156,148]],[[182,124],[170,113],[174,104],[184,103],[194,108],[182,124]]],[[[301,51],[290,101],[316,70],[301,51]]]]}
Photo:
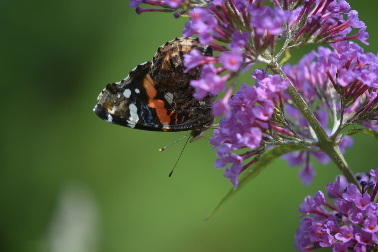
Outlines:
{"type": "MultiPolygon", "coordinates": [[[[186,23],[183,35],[189,37],[197,34],[202,44],[209,44],[214,50],[220,51],[216,57],[204,57],[196,50],[184,56],[187,70],[203,65],[201,79],[191,82],[196,90],[195,97],[201,99],[207,93],[225,91],[226,81],[248,70],[256,62],[259,51],[274,43],[275,35],[283,32],[282,23],[288,22],[290,17],[290,11],[243,1],[212,1],[209,8],[190,10],[190,21],[186,23]],[[240,24],[247,25],[246,31],[240,31],[240,24]],[[254,36],[247,30],[254,30],[254,36]],[[269,35],[263,37],[264,33],[269,35]],[[226,42],[228,47],[220,46],[216,41],[226,42]]],[[[229,114],[230,107],[226,100],[230,95],[231,92],[226,92],[225,98],[220,101],[223,104],[214,104],[214,115],[229,114]]]]}

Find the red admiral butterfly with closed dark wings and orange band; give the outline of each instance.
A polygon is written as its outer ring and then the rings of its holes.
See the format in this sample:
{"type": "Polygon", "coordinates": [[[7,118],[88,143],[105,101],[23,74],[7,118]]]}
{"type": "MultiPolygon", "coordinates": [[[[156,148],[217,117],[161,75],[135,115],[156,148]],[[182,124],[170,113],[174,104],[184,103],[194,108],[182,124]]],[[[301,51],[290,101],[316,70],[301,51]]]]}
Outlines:
{"type": "Polygon", "coordinates": [[[209,46],[198,39],[176,38],[158,48],[152,61],[136,66],[120,82],[109,83],[99,94],[93,111],[102,120],[148,131],[191,129],[191,142],[202,137],[214,116],[211,105],[216,96],[202,100],[193,97],[193,79],[199,79],[201,66],[184,73],[183,55],[197,48],[212,56],[209,46]]]}

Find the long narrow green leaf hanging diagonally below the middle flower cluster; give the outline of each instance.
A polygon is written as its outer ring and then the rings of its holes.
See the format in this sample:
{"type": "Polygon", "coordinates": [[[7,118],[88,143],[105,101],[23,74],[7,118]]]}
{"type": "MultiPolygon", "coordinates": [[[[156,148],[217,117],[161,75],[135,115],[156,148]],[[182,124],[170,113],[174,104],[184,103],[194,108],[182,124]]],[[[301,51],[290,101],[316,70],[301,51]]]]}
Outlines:
{"type": "Polygon", "coordinates": [[[235,193],[240,191],[240,189],[247,184],[251,179],[256,177],[260,171],[266,168],[266,166],[273,163],[275,159],[282,156],[283,154],[286,154],[288,152],[292,151],[298,151],[298,150],[304,150],[308,149],[305,145],[279,145],[274,148],[271,148],[270,150],[266,151],[264,156],[254,163],[253,165],[249,166],[247,170],[245,170],[242,173],[242,176],[239,177],[239,183],[238,188],[232,187],[228,193],[220,200],[218,205],[215,206],[215,208],[211,211],[211,213],[205,218],[205,220],[209,219],[214,213],[229,199],[231,198],[235,193]]]}

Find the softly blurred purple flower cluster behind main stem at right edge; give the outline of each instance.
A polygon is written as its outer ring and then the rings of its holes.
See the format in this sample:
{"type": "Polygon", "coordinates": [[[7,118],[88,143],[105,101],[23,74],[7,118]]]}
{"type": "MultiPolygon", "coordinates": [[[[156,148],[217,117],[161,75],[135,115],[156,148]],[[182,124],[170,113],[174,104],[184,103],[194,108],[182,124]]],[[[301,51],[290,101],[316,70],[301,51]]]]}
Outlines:
{"type": "MultiPolygon", "coordinates": [[[[283,66],[283,71],[311,106],[324,129],[328,125],[329,111],[332,111],[333,129],[329,129],[328,134],[335,139],[339,131],[350,123],[359,122],[367,128],[376,129],[377,56],[372,53],[364,54],[359,45],[351,42],[337,42],[331,46],[333,51],[319,47],[318,51],[305,55],[299,64],[283,66]],[[337,115],[341,117],[338,118],[337,115]]],[[[283,97],[285,103],[291,103],[288,95],[284,94],[283,97]]],[[[294,119],[292,125],[295,129],[308,128],[308,123],[301,117],[299,109],[288,104],[285,108],[287,115],[294,119]]],[[[302,133],[310,137],[310,132],[302,133]]],[[[352,145],[352,139],[347,136],[339,140],[343,153],[346,147],[352,145]]],[[[305,163],[300,172],[304,184],[309,184],[313,177],[310,175],[314,175],[312,166],[308,163],[309,154],[323,164],[330,161],[322,152],[301,151],[283,156],[290,166],[305,163]]]]}

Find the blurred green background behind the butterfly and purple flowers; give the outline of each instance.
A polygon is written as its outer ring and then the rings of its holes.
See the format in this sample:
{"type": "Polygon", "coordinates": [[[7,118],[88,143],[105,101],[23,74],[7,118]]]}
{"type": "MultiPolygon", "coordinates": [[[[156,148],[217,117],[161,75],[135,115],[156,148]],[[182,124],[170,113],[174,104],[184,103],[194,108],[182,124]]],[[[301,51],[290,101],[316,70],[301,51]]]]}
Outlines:
{"type": "MultiPolygon", "coordinates": [[[[368,27],[365,51],[377,53],[378,3],[349,2],[368,27]]],[[[299,204],[334,180],[334,165],[317,163],[303,187],[299,168],[278,160],[204,221],[231,188],[208,141],[188,145],[168,178],[184,143],[158,148],[183,132],[123,128],[92,112],[108,82],[152,59],[186,22],[128,5],[0,2],[0,251],[293,251],[299,204]]],[[[355,140],[345,156],[353,171],[377,168],[376,140],[355,140]]]]}

